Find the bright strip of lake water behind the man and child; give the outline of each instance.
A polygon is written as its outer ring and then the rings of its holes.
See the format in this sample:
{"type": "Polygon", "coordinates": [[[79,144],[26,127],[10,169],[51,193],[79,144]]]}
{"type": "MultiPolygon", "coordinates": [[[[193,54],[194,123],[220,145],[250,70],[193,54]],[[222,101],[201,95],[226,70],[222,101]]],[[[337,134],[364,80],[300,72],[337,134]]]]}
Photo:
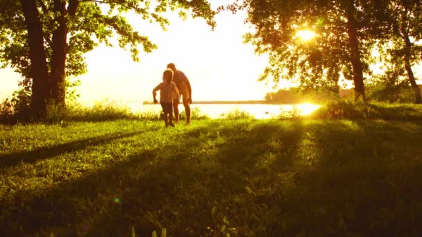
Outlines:
{"type": "MultiPolygon", "coordinates": [[[[127,106],[133,112],[161,112],[160,104],[143,105],[142,103],[127,103],[127,106]]],[[[254,116],[255,119],[273,119],[280,114],[300,114],[307,115],[321,105],[300,104],[300,105],[267,105],[267,104],[193,104],[191,109],[199,109],[200,114],[206,114],[211,119],[223,119],[228,113],[238,111],[246,112],[254,116]]],[[[179,111],[183,112],[185,108],[179,105],[179,111]]]]}

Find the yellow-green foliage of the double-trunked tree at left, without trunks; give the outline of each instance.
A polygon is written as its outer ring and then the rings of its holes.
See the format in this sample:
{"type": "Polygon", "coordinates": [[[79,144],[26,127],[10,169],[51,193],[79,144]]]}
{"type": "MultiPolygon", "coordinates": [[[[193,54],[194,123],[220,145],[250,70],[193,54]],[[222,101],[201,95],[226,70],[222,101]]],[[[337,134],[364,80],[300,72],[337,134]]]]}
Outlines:
{"type": "MultiPolygon", "coordinates": [[[[52,1],[38,1],[47,58],[51,61],[51,46],[53,30],[57,28],[52,1]]],[[[23,76],[28,77],[28,45],[26,44],[26,26],[24,17],[17,1],[0,1],[2,11],[0,19],[0,60],[4,66],[11,66],[23,76]]],[[[83,55],[92,51],[99,44],[112,46],[117,35],[117,45],[128,49],[133,60],[139,60],[139,45],[143,51],[151,52],[157,48],[149,37],[141,35],[128,23],[124,13],[134,12],[140,20],[156,22],[162,28],[169,24],[164,17],[167,10],[191,12],[194,17],[203,17],[210,26],[215,26],[213,19],[216,12],[210,8],[208,1],[159,1],[153,7],[151,1],[120,0],[120,1],[79,1],[75,14],[67,13],[68,46],[67,46],[67,76],[78,76],[86,71],[83,55]]],[[[70,10],[70,9],[69,9],[70,10]]]]}

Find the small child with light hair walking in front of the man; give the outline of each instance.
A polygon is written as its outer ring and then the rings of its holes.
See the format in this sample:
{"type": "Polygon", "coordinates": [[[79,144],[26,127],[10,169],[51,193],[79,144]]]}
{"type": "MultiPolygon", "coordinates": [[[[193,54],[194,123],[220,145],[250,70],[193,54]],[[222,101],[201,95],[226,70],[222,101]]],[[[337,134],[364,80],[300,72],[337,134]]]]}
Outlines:
{"type": "Polygon", "coordinates": [[[166,123],[166,127],[170,125],[174,127],[173,124],[173,98],[177,96],[179,97],[179,91],[176,87],[176,84],[172,82],[173,80],[173,71],[171,69],[166,69],[162,73],[162,79],[164,82],[160,83],[157,87],[153,89],[153,98],[154,103],[158,103],[157,99],[155,98],[155,93],[160,91],[160,104],[162,107],[162,112],[164,112],[164,123],[166,123]]]}

